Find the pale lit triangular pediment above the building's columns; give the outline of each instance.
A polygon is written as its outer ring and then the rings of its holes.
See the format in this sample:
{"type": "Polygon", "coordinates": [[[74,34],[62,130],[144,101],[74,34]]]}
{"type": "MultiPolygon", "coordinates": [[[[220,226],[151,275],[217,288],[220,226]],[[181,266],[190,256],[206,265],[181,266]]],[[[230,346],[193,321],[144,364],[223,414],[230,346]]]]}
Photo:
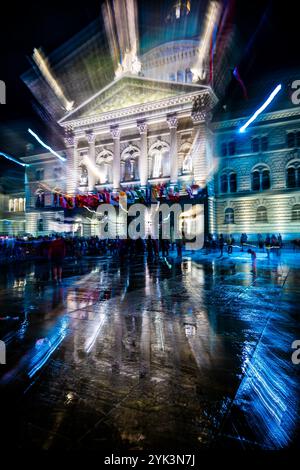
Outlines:
{"type": "Polygon", "coordinates": [[[201,89],[203,89],[201,85],[124,76],[68,113],[60,122],[88,118],[100,113],[160,101],[201,89]]]}

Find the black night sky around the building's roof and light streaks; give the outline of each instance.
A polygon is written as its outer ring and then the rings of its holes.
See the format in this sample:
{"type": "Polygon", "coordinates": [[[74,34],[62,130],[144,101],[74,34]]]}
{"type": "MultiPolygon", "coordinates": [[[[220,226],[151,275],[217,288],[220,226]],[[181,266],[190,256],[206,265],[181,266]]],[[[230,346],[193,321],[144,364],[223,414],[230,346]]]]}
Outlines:
{"type": "MultiPolygon", "coordinates": [[[[144,28],[158,21],[172,0],[139,0],[138,4],[143,12],[140,26],[144,28]]],[[[298,67],[299,26],[295,4],[297,2],[236,0],[236,25],[247,44],[240,64],[247,85],[268,73],[298,67]]],[[[5,9],[0,28],[0,79],[6,83],[7,104],[0,105],[0,150],[9,153],[15,140],[25,147],[24,128],[28,125],[43,134],[43,123],[32,108],[33,97],[20,80],[20,75],[29,67],[28,57],[33,48],[41,46],[46,53],[55,50],[100,16],[101,1],[11,0],[6,2],[5,9]]],[[[228,98],[240,99],[241,91],[236,83],[229,88],[229,93],[228,98]]],[[[1,160],[0,176],[7,168],[12,166],[1,160]]]]}

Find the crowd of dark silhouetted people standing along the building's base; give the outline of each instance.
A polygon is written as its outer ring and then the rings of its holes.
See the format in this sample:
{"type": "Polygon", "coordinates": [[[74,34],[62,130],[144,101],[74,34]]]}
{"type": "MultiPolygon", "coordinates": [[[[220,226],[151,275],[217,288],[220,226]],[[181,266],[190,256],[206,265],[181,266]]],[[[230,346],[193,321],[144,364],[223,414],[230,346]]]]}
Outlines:
{"type": "MultiPolygon", "coordinates": [[[[40,236],[40,237],[0,237],[0,263],[19,262],[39,259],[64,259],[82,258],[84,256],[101,256],[109,254],[119,256],[135,256],[146,253],[148,257],[166,257],[170,251],[177,256],[182,256],[185,246],[184,240],[155,240],[149,235],[145,240],[132,239],[100,239],[97,236],[40,236]],[[60,240],[60,241],[58,241],[60,240]],[[59,248],[60,247],[60,248],[59,248]],[[58,253],[58,254],[56,254],[58,253]]],[[[283,248],[283,240],[280,234],[267,234],[263,237],[257,235],[256,241],[250,241],[246,233],[242,233],[239,239],[233,235],[215,236],[209,234],[205,237],[204,253],[218,253],[220,257],[224,252],[231,255],[233,251],[248,251],[256,249],[265,252],[268,257],[271,253],[280,255],[283,248]]],[[[300,248],[300,240],[292,241],[294,249],[300,248]]]]}

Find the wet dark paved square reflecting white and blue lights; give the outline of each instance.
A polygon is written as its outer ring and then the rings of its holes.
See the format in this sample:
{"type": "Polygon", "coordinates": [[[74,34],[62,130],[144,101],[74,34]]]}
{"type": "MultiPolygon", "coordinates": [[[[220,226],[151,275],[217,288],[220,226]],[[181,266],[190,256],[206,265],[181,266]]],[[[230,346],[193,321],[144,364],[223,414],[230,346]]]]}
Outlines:
{"type": "Polygon", "coordinates": [[[296,446],[299,273],[189,254],[72,261],[62,285],[43,264],[2,271],[7,444],[296,446]]]}

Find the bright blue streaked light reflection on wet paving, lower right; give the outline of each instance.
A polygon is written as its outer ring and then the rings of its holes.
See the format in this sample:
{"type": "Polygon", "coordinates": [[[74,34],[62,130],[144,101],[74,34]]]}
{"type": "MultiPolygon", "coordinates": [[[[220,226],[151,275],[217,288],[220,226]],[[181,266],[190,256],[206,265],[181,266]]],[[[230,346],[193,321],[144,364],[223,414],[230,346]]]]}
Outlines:
{"type": "Polygon", "coordinates": [[[247,361],[246,376],[236,395],[237,406],[243,409],[258,440],[267,448],[288,446],[297,420],[297,380],[290,368],[291,361],[283,360],[289,350],[289,334],[277,331],[272,325],[247,361]],[[272,349],[271,349],[272,348],[272,349]]]}

